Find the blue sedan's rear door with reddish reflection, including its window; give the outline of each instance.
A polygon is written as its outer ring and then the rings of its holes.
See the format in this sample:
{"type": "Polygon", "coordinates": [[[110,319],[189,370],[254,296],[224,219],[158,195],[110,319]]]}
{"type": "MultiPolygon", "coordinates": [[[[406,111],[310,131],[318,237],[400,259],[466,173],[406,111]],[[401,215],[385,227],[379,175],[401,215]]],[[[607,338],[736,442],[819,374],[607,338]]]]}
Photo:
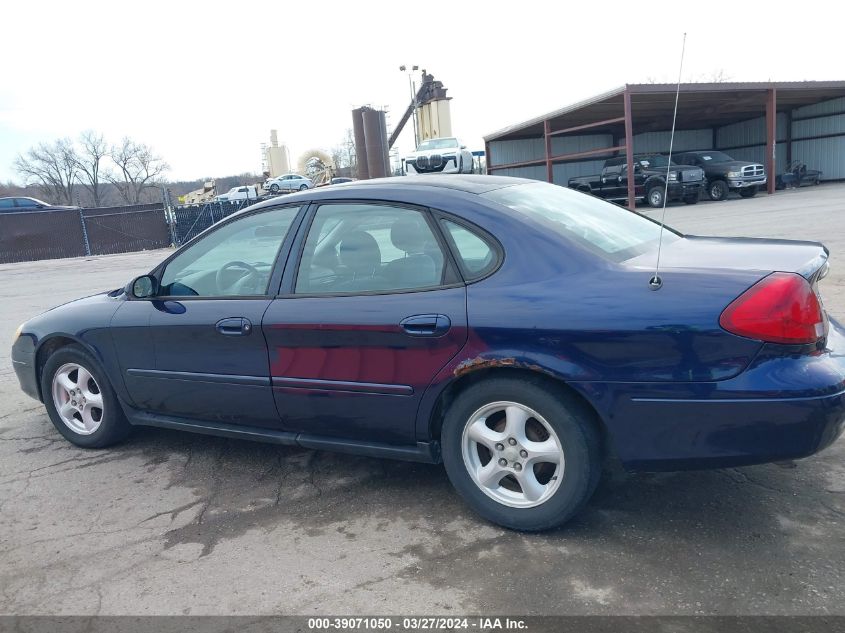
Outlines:
{"type": "Polygon", "coordinates": [[[413,443],[425,388],[467,338],[440,230],[426,209],[373,202],[322,204],[303,226],[263,324],[283,428],[413,443]]]}

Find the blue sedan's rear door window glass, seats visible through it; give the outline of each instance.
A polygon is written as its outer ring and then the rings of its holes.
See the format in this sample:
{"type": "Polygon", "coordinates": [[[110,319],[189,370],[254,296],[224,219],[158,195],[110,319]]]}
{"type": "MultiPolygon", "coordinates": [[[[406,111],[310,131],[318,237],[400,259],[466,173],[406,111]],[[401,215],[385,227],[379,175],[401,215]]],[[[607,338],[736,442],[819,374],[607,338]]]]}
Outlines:
{"type": "Polygon", "coordinates": [[[296,292],[337,294],[431,288],[444,256],[425,216],[376,204],[317,209],[305,240],[296,292]]]}

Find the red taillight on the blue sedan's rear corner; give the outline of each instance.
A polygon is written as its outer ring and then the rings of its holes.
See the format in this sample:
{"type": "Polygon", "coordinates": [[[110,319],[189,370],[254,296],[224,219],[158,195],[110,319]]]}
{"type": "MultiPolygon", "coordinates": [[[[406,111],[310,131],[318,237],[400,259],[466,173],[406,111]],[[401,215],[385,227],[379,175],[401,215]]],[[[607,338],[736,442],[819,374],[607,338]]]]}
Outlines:
{"type": "Polygon", "coordinates": [[[772,273],[722,312],[728,332],[770,343],[815,343],[824,336],[824,316],[810,284],[795,273],[772,273]]]}

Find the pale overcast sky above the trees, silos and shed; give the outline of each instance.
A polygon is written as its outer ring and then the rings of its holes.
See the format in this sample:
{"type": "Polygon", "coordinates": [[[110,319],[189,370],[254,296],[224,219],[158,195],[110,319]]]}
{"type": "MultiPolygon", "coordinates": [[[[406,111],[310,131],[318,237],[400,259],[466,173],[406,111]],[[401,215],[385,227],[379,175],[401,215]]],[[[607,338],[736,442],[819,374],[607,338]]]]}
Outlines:
{"type": "MultiPolygon", "coordinates": [[[[173,180],[258,172],[270,129],[293,160],[350,110],[410,100],[400,64],[448,88],[482,136],[624,83],[845,79],[839,5],[813,2],[12,1],[0,36],[0,180],[41,141],[86,129],[152,145],[173,180]],[[806,10],[806,13],[805,13],[806,10]]],[[[400,149],[412,144],[411,126],[400,149]]]]}

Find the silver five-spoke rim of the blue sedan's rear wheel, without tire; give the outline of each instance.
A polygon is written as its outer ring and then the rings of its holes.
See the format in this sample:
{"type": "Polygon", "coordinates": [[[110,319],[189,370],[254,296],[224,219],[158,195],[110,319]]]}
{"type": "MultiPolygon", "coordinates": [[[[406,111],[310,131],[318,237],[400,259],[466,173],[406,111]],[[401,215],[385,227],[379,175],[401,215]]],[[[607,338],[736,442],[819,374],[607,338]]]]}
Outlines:
{"type": "Polygon", "coordinates": [[[461,439],[464,466],[495,501],[532,508],[560,486],[563,446],[551,425],[516,402],[492,402],[470,416],[461,439]]]}

